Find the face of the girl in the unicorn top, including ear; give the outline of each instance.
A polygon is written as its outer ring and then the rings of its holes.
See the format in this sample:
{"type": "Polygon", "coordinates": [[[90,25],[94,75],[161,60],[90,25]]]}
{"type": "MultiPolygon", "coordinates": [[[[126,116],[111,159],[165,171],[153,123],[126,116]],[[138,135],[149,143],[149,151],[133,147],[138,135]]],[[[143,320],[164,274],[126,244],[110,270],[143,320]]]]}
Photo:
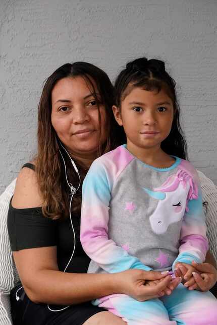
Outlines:
{"type": "Polygon", "coordinates": [[[170,134],[174,108],[172,99],[164,90],[147,91],[134,88],[121,103],[113,106],[115,118],[123,125],[127,146],[134,154],[141,149],[160,149],[170,134]]]}

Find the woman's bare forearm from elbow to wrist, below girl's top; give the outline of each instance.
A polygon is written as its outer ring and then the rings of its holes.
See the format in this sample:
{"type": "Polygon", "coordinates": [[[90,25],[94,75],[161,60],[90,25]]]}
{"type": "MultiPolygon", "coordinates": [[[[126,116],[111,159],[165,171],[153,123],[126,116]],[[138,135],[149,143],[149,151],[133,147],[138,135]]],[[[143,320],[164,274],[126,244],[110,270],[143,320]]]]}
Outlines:
{"type": "Polygon", "coordinates": [[[77,274],[53,270],[40,271],[31,285],[24,284],[36,303],[71,305],[118,293],[117,274],[77,274]]]}

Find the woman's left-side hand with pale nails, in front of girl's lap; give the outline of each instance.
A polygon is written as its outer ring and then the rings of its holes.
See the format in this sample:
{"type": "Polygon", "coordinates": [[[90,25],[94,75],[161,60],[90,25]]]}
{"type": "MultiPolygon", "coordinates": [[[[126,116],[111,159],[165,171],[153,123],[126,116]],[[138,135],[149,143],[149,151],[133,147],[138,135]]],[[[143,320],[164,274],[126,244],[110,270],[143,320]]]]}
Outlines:
{"type": "Polygon", "coordinates": [[[116,273],[115,276],[120,286],[120,293],[127,294],[138,301],[161,297],[166,291],[170,294],[181,282],[179,278],[173,280],[171,276],[167,276],[167,273],[135,269],[116,273]],[[155,280],[160,281],[150,285],[150,281],[155,280]]]}

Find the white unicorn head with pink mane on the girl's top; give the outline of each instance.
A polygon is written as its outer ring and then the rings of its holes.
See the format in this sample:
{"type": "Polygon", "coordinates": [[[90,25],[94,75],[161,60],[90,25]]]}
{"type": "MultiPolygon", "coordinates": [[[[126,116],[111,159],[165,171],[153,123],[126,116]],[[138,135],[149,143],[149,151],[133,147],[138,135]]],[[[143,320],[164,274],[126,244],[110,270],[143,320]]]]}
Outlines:
{"type": "Polygon", "coordinates": [[[197,186],[192,177],[183,170],[168,177],[158,188],[142,189],[151,198],[158,200],[155,211],[149,217],[151,228],[156,234],[165,233],[171,224],[182,220],[188,211],[188,201],[198,197],[197,186]]]}

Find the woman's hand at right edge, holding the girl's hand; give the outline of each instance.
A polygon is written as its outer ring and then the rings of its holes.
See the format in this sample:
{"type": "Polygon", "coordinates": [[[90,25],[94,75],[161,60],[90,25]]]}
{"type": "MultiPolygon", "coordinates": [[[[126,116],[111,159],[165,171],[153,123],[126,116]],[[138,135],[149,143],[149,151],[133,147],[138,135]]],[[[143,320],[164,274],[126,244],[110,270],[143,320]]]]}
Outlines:
{"type": "Polygon", "coordinates": [[[189,290],[208,291],[217,281],[217,270],[209,263],[197,264],[192,262],[193,267],[198,273],[193,273],[195,284],[189,287],[189,290]]]}

